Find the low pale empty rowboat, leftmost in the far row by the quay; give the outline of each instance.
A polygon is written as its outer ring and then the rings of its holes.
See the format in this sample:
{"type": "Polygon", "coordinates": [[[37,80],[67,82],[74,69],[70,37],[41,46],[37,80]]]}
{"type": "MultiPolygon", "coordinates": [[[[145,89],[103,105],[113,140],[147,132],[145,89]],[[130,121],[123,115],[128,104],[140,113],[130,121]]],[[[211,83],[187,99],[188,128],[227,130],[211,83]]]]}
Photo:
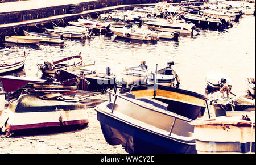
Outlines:
{"type": "Polygon", "coordinates": [[[42,38],[34,36],[6,36],[5,41],[10,43],[38,44],[42,38]]]}

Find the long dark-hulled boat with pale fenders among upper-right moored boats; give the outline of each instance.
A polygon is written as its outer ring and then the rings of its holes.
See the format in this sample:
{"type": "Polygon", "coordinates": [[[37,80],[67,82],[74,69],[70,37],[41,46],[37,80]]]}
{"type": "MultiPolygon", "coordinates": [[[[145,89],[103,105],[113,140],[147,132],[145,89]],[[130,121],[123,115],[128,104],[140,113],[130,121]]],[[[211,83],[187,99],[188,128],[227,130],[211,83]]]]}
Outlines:
{"type": "Polygon", "coordinates": [[[233,26],[229,20],[215,19],[204,15],[183,13],[183,18],[187,20],[187,22],[192,22],[199,28],[226,29],[233,26]]]}

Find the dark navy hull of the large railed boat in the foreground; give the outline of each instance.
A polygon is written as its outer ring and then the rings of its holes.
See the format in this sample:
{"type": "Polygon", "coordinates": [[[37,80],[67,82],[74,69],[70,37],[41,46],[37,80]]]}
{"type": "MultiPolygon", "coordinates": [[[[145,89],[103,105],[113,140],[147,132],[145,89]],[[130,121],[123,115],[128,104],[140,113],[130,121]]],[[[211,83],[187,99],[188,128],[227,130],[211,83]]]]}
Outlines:
{"type": "Polygon", "coordinates": [[[186,145],[152,132],[119,122],[97,112],[101,130],[110,145],[122,145],[127,153],[196,153],[195,145],[186,145]]]}

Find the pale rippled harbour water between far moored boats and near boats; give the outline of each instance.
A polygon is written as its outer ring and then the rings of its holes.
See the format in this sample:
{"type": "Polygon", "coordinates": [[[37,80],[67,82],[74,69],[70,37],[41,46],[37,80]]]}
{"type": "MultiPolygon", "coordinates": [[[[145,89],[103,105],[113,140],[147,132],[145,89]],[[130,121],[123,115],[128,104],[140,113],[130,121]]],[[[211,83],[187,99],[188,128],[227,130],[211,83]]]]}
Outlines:
{"type": "Polygon", "coordinates": [[[245,16],[228,31],[202,30],[192,37],[179,37],[179,41],[137,41],[121,39],[115,35],[92,36],[90,40],[67,40],[64,45],[38,44],[31,46],[5,43],[0,45],[1,60],[21,56],[26,51],[24,69],[19,76],[40,76],[37,63],[46,59],[57,60],[81,52],[84,61],[96,61],[97,71],[105,72],[109,66],[118,74],[125,67],[146,61],[152,70],[165,67],[168,61],[179,74],[180,88],[205,94],[205,75],[211,70],[222,71],[233,80],[232,91],[243,95],[245,78],[255,71],[255,16],[245,16]]]}

